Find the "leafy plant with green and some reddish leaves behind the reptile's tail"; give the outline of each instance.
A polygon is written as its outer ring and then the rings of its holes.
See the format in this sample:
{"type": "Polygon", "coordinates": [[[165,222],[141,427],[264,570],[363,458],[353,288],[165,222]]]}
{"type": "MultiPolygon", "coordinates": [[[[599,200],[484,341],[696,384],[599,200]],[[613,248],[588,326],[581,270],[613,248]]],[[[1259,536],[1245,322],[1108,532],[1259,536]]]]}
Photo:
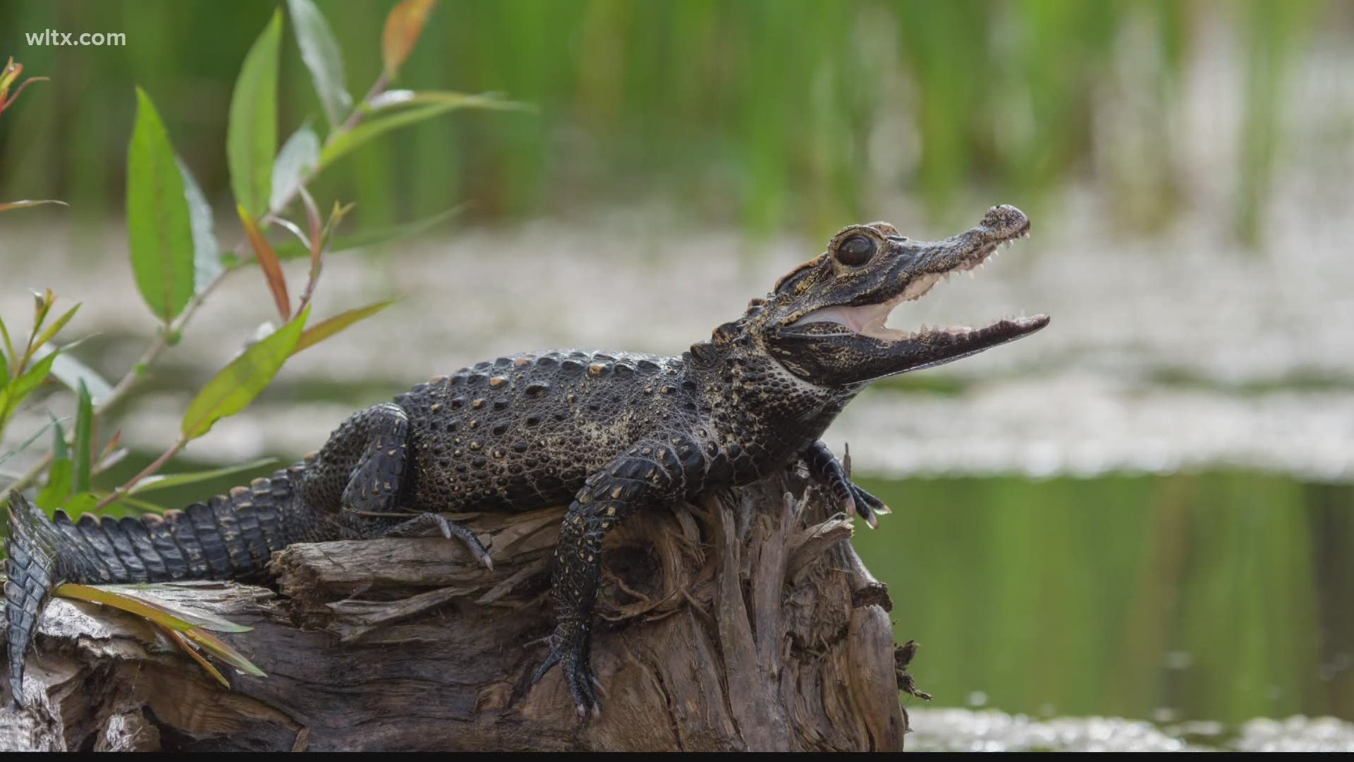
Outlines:
{"type": "MultiPolygon", "coordinates": [[[[12,340],[8,327],[0,321],[0,335],[4,339],[4,357],[0,362],[0,435],[15,411],[49,377],[76,392],[74,428],[69,435],[61,420],[53,419],[47,427],[0,457],[3,464],[39,442],[47,428],[54,430],[51,450],[39,457],[26,473],[14,477],[7,488],[38,485],[37,502],[42,510],[51,513],[60,508],[73,517],[89,511],[118,514],[158,510],[134,495],[149,488],[223,476],[219,469],[157,475],[183,447],[206,435],[217,420],[248,407],[282,370],[287,358],[390,305],[390,301],[380,301],[307,325],[325,254],[351,210],[351,205],[344,206],[336,201],[326,220],[309,187],[340,156],[386,132],[452,108],[504,104],[492,98],[454,92],[389,88],[418,41],[428,5],[428,0],[406,0],[391,12],[380,38],[386,68],[367,96],[355,106],[344,89],[343,58],[324,16],[310,0],[291,0],[291,14],[302,19],[295,27],[298,46],[305,53],[315,88],[329,108],[330,123],[322,141],[303,125],[297,133],[302,138],[288,140],[280,152],[278,53],[282,46],[283,16],[280,11],[274,14],[245,57],[230,104],[226,155],[244,236],[229,256],[217,243],[211,210],[190,164],[179,160],[171,132],[148,91],[137,88],[135,122],[126,153],[126,224],[137,289],[160,323],[158,335],[122,380],[108,384],[79,363],[66,365],[73,373],[56,372],[56,361],[62,350],[72,346],[58,344],[58,334],[72,321],[80,305],[51,319],[56,315],[56,296],[50,290],[35,294],[32,328],[23,343],[12,340]],[[269,236],[269,229],[282,232],[269,236]],[[310,273],[299,300],[292,300],[288,292],[272,243],[276,235],[292,235],[302,244],[299,255],[310,259],[310,273]],[[141,382],[165,347],[183,338],[190,320],[217,283],[250,262],[257,263],[263,271],[278,308],[279,327],[248,344],[194,396],[183,414],[179,437],[160,457],[116,487],[96,484],[95,476],[107,472],[127,454],[119,447],[118,433],[106,438],[97,435],[100,419],[141,382]],[[97,401],[91,389],[99,389],[97,401]]],[[[0,106],[4,110],[12,106],[27,84],[19,81],[22,72],[22,65],[9,61],[0,73],[0,106]],[[15,87],[15,94],[5,98],[11,87],[15,87]]],[[[23,205],[8,205],[8,209],[19,206],[23,205]]],[[[401,235],[418,229],[422,229],[421,225],[405,225],[393,228],[389,233],[401,235]]],[[[372,239],[372,230],[366,230],[363,240],[376,239],[372,239]]],[[[230,473],[238,469],[230,469],[230,473]]]]}

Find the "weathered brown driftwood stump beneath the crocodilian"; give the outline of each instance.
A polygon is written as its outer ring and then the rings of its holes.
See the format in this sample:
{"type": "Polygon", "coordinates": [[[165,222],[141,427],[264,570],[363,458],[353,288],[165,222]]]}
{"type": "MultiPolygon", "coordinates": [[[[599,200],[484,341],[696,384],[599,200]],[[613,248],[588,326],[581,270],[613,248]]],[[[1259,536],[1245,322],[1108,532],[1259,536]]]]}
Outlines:
{"type": "Polygon", "coordinates": [[[492,572],[443,540],[324,542],[274,556],[279,593],[157,593],[255,628],[222,637],[268,677],[233,690],[145,621],[54,601],[0,748],[900,750],[888,593],[833,514],[787,473],[613,532],[600,719],[577,717],[559,670],[528,686],[551,628],[551,508],[460,517],[492,572]]]}

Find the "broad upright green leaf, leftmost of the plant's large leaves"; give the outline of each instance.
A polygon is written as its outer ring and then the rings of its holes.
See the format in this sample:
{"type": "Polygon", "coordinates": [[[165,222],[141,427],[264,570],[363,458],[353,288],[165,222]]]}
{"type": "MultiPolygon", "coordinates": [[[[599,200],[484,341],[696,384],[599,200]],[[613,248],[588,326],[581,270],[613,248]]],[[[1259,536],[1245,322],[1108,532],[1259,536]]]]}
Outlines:
{"type": "Polygon", "coordinates": [[[141,88],[127,145],[127,239],[141,297],[168,324],[192,298],[192,224],[169,134],[141,88]]]}

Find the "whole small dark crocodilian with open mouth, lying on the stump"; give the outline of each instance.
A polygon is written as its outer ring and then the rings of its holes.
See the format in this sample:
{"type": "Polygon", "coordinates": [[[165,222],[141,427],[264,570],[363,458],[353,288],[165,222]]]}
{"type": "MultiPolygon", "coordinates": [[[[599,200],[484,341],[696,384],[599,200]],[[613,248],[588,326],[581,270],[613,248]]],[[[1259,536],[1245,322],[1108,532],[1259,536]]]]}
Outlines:
{"type": "Polygon", "coordinates": [[[569,503],[554,552],[548,655],[581,716],[597,713],[589,664],[603,540],[636,508],[672,504],[802,464],[835,506],[871,527],[888,513],[821,437],[871,381],[951,362],[1029,335],[1044,315],[983,328],[886,327],[941,278],[974,270],[1029,235],[1013,206],[932,243],[887,222],[852,225],[780,278],[737,320],[680,357],[535,351],[481,362],[355,414],[303,461],[183,511],[49,519],[9,500],[9,685],[23,701],[24,654],[64,582],[144,583],[264,576],[292,542],[443,536],[492,559],[444,511],[527,511],[569,503]]]}

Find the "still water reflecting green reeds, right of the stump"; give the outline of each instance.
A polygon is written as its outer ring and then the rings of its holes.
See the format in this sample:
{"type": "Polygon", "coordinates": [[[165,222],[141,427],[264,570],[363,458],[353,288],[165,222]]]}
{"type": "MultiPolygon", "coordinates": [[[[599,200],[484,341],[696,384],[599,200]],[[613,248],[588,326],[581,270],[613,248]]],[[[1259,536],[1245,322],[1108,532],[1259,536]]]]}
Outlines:
{"type": "MultiPolygon", "coordinates": [[[[1354,719],[1354,487],[1250,472],[862,484],[936,705],[1354,719]]],[[[915,700],[910,701],[917,704],[915,700]]]]}

